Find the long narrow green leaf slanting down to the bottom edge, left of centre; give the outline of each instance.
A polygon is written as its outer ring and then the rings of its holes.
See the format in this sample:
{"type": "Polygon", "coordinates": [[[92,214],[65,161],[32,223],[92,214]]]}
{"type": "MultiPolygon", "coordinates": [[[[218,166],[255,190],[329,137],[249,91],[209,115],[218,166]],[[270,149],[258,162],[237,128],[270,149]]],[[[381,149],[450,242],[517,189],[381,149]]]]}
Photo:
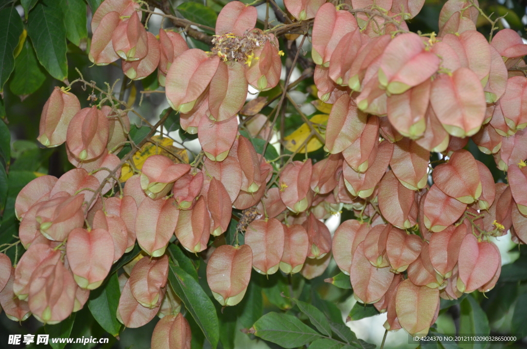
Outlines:
{"type": "Polygon", "coordinates": [[[210,298],[198,282],[181,267],[175,265],[173,260],[169,263],[168,279],[175,294],[181,298],[210,345],[215,349],[219,340],[219,322],[210,298]]]}

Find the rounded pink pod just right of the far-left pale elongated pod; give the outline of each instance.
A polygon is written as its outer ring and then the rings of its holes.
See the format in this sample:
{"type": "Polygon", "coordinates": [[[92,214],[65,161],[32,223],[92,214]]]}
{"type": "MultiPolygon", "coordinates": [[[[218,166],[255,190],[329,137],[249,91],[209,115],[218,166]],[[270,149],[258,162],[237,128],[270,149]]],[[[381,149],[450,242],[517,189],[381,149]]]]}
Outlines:
{"type": "Polygon", "coordinates": [[[94,159],[106,149],[109,127],[108,119],[96,106],[81,109],[67,129],[67,147],[80,160],[94,159]]]}

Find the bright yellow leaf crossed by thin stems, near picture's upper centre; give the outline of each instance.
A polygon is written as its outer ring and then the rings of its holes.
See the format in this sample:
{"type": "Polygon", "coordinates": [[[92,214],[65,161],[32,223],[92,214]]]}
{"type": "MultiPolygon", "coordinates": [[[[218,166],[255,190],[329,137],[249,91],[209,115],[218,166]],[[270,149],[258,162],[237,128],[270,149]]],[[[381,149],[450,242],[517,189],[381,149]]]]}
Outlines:
{"type": "MultiPolygon", "coordinates": [[[[327,114],[317,114],[313,118],[309,119],[313,123],[313,127],[315,128],[315,130],[323,138],[326,137],[326,128],[320,128],[320,125],[325,126],[328,123],[328,118],[329,115],[327,114]]],[[[297,150],[300,153],[304,152],[305,149],[304,147],[302,147],[302,145],[309,137],[310,133],[311,130],[309,130],[309,126],[306,123],[303,123],[298,129],[296,129],[284,138],[286,149],[292,152],[295,152],[297,150]]],[[[317,149],[322,148],[323,146],[324,144],[321,143],[315,135],[312,135],[311,138],[307,141],[308,152],[315,151],[317,149]]]]}

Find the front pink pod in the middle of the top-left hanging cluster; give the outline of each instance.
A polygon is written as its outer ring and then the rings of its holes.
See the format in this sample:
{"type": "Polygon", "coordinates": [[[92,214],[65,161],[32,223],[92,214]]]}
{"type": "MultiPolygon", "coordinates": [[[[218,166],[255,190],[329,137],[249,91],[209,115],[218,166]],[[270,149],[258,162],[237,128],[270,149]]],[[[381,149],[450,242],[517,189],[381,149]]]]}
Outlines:
{"type": "Polygon", "coordinates": [[[133,12],[115,28],[112,46],[115,53],[125,61],[138,61],[147,55],[148,35],[137,12],[133,12]]]}

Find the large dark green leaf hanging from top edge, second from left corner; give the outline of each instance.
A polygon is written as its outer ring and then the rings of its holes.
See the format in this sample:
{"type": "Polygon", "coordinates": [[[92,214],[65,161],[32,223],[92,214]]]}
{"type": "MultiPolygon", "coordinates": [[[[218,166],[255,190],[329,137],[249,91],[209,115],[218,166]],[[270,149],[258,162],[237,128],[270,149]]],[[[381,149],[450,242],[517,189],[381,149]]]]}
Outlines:
{"type": "Polygon", "coordinates": [[[27,34],[33,41],[38,61],[55,79],[67,79],[66,25],[60,3],[42,0],[27,19],[27,34]]]}

